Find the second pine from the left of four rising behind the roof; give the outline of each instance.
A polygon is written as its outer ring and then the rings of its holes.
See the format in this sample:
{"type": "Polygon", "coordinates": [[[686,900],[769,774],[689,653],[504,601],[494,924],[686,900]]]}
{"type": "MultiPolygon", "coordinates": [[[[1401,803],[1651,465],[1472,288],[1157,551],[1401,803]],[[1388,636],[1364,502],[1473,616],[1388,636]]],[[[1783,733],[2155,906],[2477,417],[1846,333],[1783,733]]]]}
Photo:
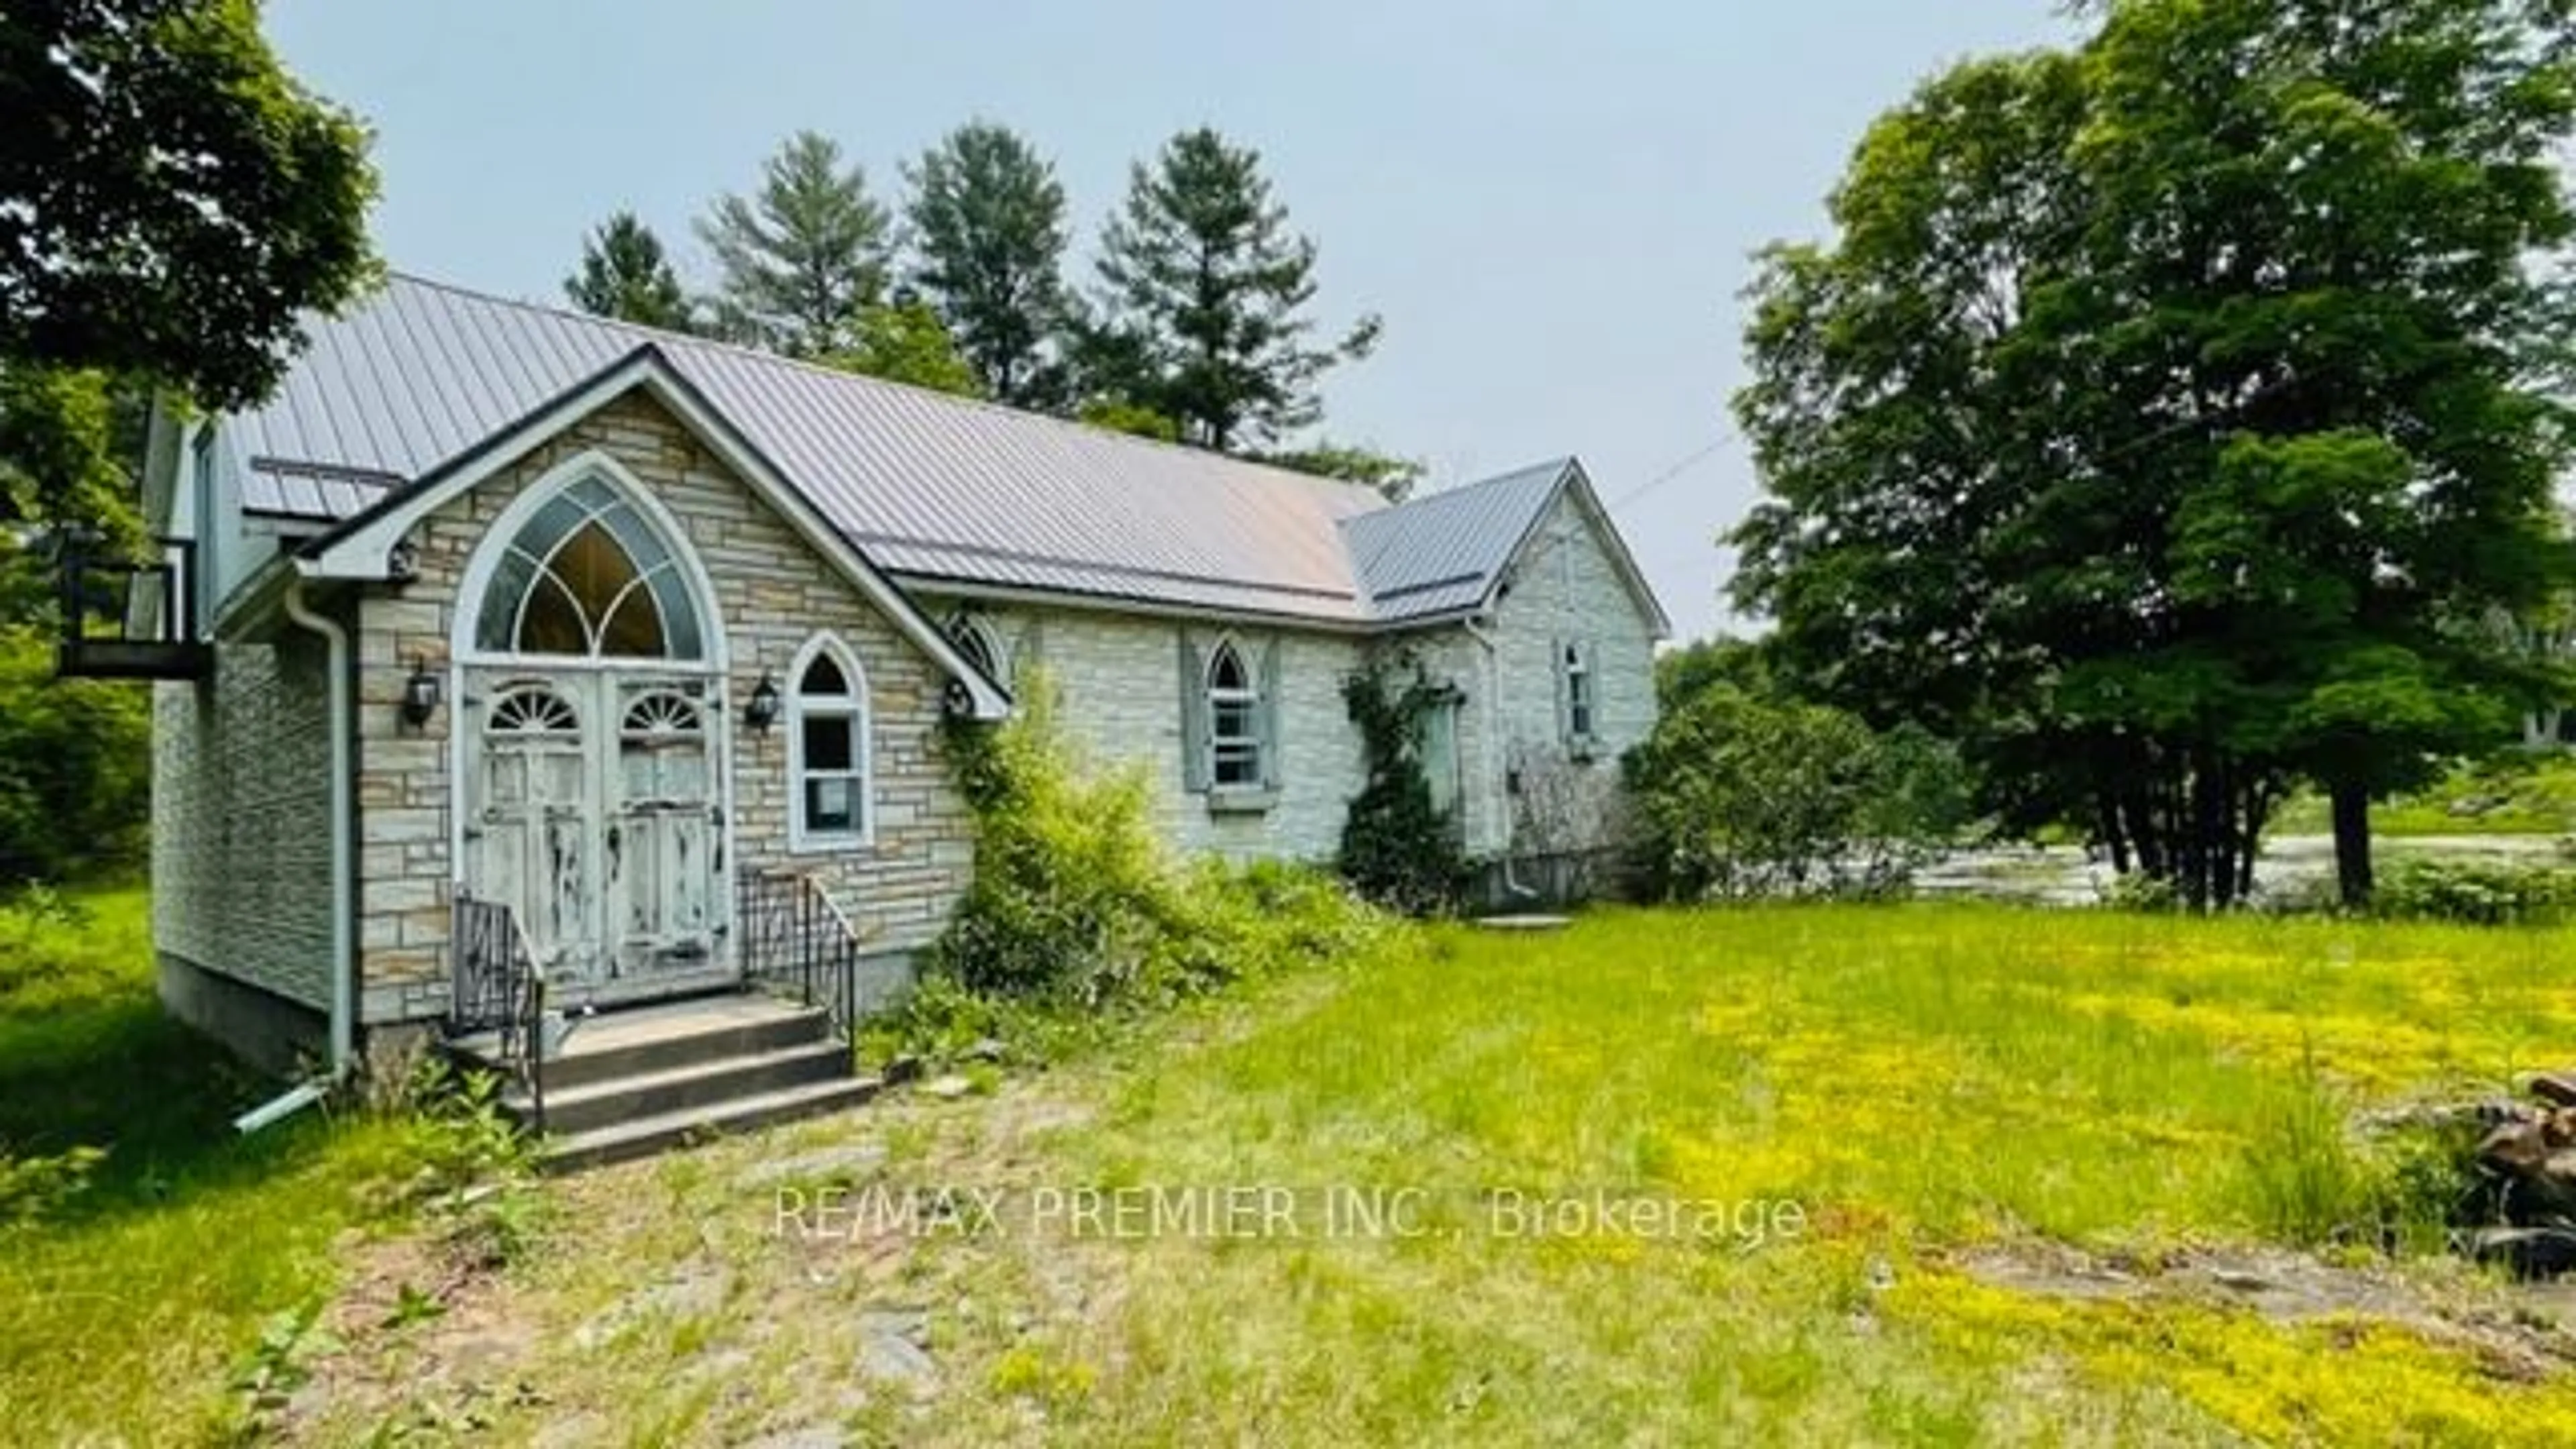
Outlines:
{"type": "Polygon", "coordinates": [[[853,348],[860,309],[886,294],[886,209],[866,170],[845,168],[840,144],[817,131],[788,137],[757,193],[719,196],[698,237],[716,253],[716,325],[793,358],[853,348]]]}

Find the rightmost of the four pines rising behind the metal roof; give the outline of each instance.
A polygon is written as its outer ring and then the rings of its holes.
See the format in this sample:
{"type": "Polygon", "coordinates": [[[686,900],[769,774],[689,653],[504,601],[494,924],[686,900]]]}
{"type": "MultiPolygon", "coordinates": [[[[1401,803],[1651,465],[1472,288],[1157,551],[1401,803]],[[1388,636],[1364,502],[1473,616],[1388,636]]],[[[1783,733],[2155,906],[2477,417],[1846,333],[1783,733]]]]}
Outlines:
{"type": "Polygon", "coordinates": [[[1213,129],[1182,131],[1131,170],[1100,237],[1092,392],[1162,413],[1182,441],[1218,451],[1314,423],[1316,379],[1378,340],[1376,317],[1332,345],[1309,340],[1316,245],[1288,229],[1260,160],[1213,129]]]}

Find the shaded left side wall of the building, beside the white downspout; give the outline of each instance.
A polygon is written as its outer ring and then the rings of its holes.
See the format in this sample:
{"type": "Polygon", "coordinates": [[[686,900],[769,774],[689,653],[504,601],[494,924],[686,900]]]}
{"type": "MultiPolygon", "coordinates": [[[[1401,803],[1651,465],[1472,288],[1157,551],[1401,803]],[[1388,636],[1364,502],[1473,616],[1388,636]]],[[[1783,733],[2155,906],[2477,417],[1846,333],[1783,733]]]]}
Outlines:
{"type": "Polygon", "coordinates": [[[216,645],[152,688],[152,941],[330,1006],[330,678],[322,639],[216,645]]]}

